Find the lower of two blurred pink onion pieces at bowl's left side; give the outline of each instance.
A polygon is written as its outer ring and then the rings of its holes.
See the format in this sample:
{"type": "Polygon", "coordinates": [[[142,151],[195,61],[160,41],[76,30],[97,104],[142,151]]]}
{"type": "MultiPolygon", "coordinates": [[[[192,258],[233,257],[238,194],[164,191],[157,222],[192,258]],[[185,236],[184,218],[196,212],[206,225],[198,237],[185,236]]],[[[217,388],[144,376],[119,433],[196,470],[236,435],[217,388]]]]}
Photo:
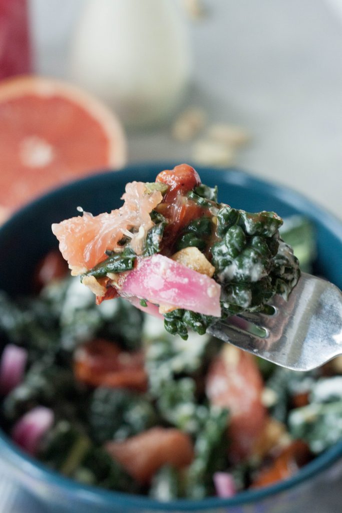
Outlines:
{"type": "Polygon", "coordinates": [[[19,419],[12,429],[12,439],[22,449],[34,456],[39,442],[52,427],[54,413],[45,406],[36,406],[19,419]]]}

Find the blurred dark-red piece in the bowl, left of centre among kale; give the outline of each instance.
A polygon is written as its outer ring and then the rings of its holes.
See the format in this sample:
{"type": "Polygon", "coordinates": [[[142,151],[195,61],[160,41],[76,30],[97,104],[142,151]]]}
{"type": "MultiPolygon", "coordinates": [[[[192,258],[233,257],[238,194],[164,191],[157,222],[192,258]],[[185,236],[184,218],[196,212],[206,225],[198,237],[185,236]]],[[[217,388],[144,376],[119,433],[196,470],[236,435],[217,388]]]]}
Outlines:
{"type": "Polygon", "coordinates": [[[94,340],[75,351],[74,374],[78,381],[94,387],[147,389],[143,351],[122,351],[107,340],[94,340]]]}

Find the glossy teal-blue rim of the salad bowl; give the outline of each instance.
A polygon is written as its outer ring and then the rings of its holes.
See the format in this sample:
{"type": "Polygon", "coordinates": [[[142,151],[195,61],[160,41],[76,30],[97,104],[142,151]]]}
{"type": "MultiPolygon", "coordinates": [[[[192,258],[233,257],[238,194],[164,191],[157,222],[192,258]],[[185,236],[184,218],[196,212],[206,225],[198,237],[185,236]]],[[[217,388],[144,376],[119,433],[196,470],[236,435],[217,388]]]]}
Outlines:
{"type": "MultiPolygon", "coordinates": [[[[39,205],[48,203],[53,200],[56,196],[58,197],[61,192],[68,194],[69,190],[73,190],[79,185],[91,185],[97,180],[101,180],[108,175],[125,177],[127,173],[139,172],[139,171],[151,171],[155,169],[159,172],[163,169],[172,169],[176,163],[167,162],[144,162],[138,164],[130,164],[123,169],[113,171],[109,170],[104,172],[96,172],[96,174],[89,175],[81,180],[75,180],[66,185],[62,185],[56,189],[53,189],[43,196],[32,201],[22,209],[15,212],[12,217],[6,221],[0,227],[0,236],[2,232],[6,232],[11,229],[12,224],[19,221],[22,216],[25,216],[26,212],[30,212],[32,209],[39,205]]],[[[307,199],[306,196],[292,190],[289,187],[268,182],[259,177],[252,176],[244,170],[237,168],[224,168],[224,169],[209,169],[204,166],[195,166],[196,169],[201,172],[210,171],[212,174],[219,172],[222,176],[227,176],[228,183],[236,183],[242,185],[248,185],[253,189],[266,192],[274,197],[285,201],[286,203],[293,206],[300,206],[302,211],[305,211],[313,220],[319,221],[320,224],[326,226],[329,230],[333,231],[334,234],[342,242],[342,223],[330,212],[321,206],[317,206],[314,202],[307,199]],[[229,179],[228,179],[229,176],[229,179]]],[[[294,488],[297,485],[308,481],[310,478],[318,475],[319,472],[326,470],[333,463],[335,463],[340,457],[342,457],[342,440],[334,444],[331,448],[325,451],[320,456],[317,456],[305,467],[298,470],[298,472],[290,479],[280,481],[272,486],[267,486],[260,489],[250,489],[239,492],[237,495],[229,498],[222,499],[218,497],[208,497],[201,500],[188,500],[178,499],[169,502],[160,502],[153,499],[149,499],[146,496],[131,495],[124,492],[106,490],[95,486],[81,485],[76,481],[64,477],[58,472],[49,469],[44,464],[38,462],[34,458],[26,455],[21,449],[19,449],[11,439],[5,435],[0,428],[0,454],[7,457],[7,461],[14,465],[16,468],[25,471],[29,476],[34,477],[40,481],[44,481],[49,485],[57,486],[62,492],[65,492],[69,496],[72,495],[75,498],[86,500],[94,505],[110,506],[114,503],[116,505],[122,505],[125,507],[146,507],[151,510],[172,511],[175,509],[184,511],[194,510],[205,510],[208,508],[219,508],[227,506],[237,506],[248,503],[258,502],[260,500],[274,497],[283,491],[290,488],[294,488]],[[53,482],[53,483],[52,483],[53,482]]]]}

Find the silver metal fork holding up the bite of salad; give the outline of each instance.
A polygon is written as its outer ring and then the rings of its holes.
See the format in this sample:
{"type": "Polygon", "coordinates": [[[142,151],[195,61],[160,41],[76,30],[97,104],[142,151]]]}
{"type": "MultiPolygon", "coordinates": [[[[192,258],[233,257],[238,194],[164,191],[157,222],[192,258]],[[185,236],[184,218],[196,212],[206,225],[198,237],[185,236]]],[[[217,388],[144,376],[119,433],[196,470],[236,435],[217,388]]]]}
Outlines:
{"type": "Polygon", "coordinates": [[[342,354],[342,292],[311,274],[270,313],[245,312],[208,328],[214,337],[293,370],[310,370],[342,354]]]}

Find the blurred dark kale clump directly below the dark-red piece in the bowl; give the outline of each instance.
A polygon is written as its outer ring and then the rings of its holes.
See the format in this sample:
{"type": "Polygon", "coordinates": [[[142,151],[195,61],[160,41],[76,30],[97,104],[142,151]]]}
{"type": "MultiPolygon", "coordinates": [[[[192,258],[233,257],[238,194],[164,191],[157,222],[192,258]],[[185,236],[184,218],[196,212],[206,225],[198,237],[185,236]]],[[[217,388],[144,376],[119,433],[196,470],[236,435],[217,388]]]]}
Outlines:
{"type": "Polygon", "coordinates": [[[88,420],[92,439],[102,444],[149,429],[157,423],[157,415],[144,394],[100,387],[92,394],[88,420]]]}

